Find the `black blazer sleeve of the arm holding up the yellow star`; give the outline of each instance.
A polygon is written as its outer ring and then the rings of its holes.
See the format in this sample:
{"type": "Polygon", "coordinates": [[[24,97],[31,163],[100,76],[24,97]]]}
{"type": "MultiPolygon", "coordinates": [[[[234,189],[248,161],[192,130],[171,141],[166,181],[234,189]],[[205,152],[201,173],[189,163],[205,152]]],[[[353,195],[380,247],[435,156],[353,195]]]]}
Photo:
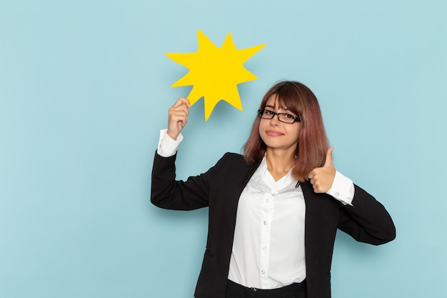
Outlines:
{"type": "Polygon", "coordinates": [[[176,154],[161,157],[155,154],[151,178],[151,202],[157,207],[193,210],[209,206],[209,189],[215,167],[204,174],[176,181],[176,154]]]}

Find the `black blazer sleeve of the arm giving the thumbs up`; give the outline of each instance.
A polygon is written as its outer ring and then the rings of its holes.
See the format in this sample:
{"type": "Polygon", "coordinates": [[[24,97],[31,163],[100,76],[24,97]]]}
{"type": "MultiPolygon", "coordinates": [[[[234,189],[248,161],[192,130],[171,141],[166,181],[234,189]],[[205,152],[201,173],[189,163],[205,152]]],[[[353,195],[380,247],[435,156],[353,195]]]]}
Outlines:
{"type": "Polygon", "coordinates": [[[338,229],[358,242],[379,245],[396,238],[393,219],[371,194],[354,185],[353,206],[341,205],[338,229]]]}

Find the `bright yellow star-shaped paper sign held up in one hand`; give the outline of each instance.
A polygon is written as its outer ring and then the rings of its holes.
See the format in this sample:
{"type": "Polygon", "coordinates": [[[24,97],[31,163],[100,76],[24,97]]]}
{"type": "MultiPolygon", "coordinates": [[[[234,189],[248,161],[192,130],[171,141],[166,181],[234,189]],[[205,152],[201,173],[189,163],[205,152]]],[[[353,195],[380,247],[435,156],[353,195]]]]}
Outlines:
{"type": "Polygon", "coordinates": [[[214,106],[227,101],[236,109],[242,110],[237,85],[257,79],[243,67],[243,63],[265,44],[247,49],[236,49],[228,32],[220,48],[213,44],[200,30],[197,31],[199,49],[195,53],[166,53],[170,59],[186,66],[188,74],[176,81],[171,87],[193,86],[188,95],[192,104],[204,97],[205,120],[208,121],[214,106]]]}

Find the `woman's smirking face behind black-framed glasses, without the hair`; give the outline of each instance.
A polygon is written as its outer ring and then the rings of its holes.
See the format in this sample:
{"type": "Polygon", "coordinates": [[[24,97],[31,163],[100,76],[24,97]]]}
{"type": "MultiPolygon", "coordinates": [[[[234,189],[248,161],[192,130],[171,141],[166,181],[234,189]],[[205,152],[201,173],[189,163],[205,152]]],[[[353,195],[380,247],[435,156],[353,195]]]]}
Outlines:
{"type": "MultiPolygon", "coordinates": [[[[289,111],[286,106],[279,106],[276,95],[270,96],[264,109],[298,116],[289,111]]],[[[300,129],[301,122],[284,123],[278,120],[277,115],[273,116],[272,119],[261,119],[259,123],[259,135],[266,143],[267,149],[290,150],[291,154],[294,154],[298,145],[300,129]]]]}

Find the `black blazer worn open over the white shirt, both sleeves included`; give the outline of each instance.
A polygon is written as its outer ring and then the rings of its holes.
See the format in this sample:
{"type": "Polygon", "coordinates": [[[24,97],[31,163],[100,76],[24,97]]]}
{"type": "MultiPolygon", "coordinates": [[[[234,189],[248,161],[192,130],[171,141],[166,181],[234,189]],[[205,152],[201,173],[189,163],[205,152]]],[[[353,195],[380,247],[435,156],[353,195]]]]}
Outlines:
{"type": "MultiPolygon", "coordinates": [[[[209,207],[209,231],[196,298],[224,298],[233,247],[238,199],[259,163],[246,164],[239,154],[227,153],[208,172],[176,181],[174,157],[155,155],[151,202],[158,207],[192,210],[209,207]]],[[[396,237],[386,209],[370,194],[355,187],[353,206],[343,206],[328,194],[316,194],[301,184],[306,202],[305,249],[308,298],[331,297],[331,262],[336,230],[359,242],[383,244],[396,237]]]]}

